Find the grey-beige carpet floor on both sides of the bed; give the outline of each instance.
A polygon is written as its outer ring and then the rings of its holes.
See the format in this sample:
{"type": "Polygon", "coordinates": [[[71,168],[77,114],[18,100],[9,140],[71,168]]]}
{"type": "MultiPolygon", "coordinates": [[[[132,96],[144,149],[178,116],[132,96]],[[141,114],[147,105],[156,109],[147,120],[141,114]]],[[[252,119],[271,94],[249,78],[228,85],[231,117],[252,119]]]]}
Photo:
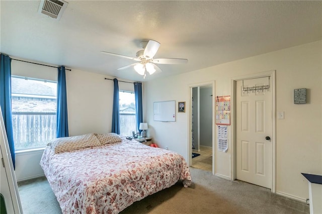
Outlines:
{"type": "MultiPolygon", "coordinates": [[[[134,202],[121,213],[292,213],[308,214],[309,206],[243,181],[229,181],[211,172],[190,168],[193,185],[181,182],[134,202]]],[[[45,178],[19,182],[25,214],[61,213],[45,178]]]]}

